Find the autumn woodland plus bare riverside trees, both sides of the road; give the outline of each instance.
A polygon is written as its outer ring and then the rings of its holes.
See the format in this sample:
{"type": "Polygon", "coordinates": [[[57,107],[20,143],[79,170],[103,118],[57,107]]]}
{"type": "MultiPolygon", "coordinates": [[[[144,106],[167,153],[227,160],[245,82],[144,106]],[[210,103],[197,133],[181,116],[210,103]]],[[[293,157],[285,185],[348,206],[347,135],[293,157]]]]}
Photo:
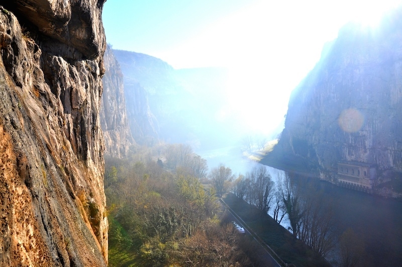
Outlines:
{"type": "Polygon", "coordinates": [[[125,159],[106,158],[105,192],[110,266],[264,266],[261,248],[219,202],[225,194],[261,218],[286,221],[294,240],[332,264],[359,266],[364,256],[353,230],[338,233],[336,202],[319,183],[288,173],[273,178],[263,165],[238,176],[224,164],[209,171],[188,145],[137,146],[125,159]]]}

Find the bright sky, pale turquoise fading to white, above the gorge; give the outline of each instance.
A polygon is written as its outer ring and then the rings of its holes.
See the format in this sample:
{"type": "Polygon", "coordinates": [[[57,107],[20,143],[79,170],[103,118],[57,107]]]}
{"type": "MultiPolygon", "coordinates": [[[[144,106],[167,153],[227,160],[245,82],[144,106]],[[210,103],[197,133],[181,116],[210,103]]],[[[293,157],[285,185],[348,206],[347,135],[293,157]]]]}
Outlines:
{"type": "Polygon", "coordinates": [[[375,28],[400,2],[108,0],[103,22],[114,49],[155,56],[175,69],[229,68],[227,102],[217,116],[237,116],[251,131],[270,134],[323,45],[350,21],[375,28]]]}

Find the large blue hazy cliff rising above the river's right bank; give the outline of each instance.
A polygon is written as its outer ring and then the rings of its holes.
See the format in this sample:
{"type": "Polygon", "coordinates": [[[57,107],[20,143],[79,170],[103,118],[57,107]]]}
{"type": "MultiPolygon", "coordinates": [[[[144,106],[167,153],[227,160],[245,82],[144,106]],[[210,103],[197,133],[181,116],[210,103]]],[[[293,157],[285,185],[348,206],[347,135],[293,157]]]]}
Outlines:
{"type": "Polygon", "coordinates": [[[337,182],[337,163],[365,162],[376,185],[402,172],[402,10],[378,28],[349,24],[295,88],[285,129],[261,162],[337,182]]]}

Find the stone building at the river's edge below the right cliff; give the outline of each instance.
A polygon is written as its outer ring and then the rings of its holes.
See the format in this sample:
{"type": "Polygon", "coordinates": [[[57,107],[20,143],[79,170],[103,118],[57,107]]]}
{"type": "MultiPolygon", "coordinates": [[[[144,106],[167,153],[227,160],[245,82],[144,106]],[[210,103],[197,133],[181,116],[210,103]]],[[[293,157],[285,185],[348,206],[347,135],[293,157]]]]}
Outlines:
{"type": "Polygon", "coordinates": [[[374,164],[358,161],[338,162],[338,185],[361,191],[371,191],[375,186],[374,164]]]}

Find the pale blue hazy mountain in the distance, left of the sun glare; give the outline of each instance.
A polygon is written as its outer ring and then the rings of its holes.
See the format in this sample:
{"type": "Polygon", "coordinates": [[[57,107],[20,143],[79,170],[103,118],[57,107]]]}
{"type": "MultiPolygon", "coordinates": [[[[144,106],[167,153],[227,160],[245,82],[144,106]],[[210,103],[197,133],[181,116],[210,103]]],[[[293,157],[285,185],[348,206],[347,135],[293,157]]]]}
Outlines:
{"type": "Polygon", "coordinates": [[[124,74],[129,120],[138,98],[133,92],[143,88],[160,139],[207,148],[238,138],[233,122],[218,118],[225,105],[226,69],[175,70],[149,55],[123,50],[114,50],[114,54],[124,74]]]}

